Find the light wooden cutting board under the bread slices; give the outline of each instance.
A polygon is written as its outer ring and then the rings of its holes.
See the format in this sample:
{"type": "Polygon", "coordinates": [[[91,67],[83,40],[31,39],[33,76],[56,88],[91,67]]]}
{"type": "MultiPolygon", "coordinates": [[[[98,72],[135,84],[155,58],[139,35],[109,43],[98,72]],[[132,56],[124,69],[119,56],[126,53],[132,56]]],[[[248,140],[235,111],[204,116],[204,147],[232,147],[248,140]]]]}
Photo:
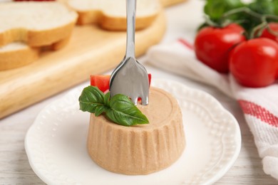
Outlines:
{"type": "MultiPolygon", "coordinates": [[[[163,38],[163,12],[152,26],[135,33],[135,53],[140,56],[163,38]]],[[[115,68],[125,55],[126,33],[98,26],[76,26],[71,41],[60,51],[41,54],[35,63],[0,71],[0,119],[82,83],[91,74],[115,68]]]]}

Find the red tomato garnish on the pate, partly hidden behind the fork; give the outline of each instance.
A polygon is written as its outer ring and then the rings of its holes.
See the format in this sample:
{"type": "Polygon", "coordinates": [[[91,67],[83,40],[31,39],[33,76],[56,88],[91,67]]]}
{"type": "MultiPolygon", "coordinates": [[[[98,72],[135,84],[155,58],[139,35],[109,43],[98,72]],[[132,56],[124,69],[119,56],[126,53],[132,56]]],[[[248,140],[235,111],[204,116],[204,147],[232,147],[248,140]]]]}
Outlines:
{"type": "MultiPolygon", "coordinates": [[[[148,74],[149,85],[152,75],[148,74]]],[[[109,90],[110,75],[91,75],[91,85],[96,86],[103,93],[109,90]]]]}

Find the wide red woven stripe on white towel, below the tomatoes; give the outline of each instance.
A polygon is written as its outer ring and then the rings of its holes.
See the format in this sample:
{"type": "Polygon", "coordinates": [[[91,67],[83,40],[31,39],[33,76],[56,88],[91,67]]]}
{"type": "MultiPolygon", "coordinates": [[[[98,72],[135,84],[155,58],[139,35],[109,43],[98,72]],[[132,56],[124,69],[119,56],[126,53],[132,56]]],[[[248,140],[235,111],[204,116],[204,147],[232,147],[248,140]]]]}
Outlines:
{"type": "Polygon", "coordinates": [[[268,123],[274,127],[278,127],[278,117],[273,115],[272,112],[266,110],[264,107],[255,104],[254,102],[248,102],[246,100],[238,100],[244,114],[257,117],[259,120],[268,123]]]}

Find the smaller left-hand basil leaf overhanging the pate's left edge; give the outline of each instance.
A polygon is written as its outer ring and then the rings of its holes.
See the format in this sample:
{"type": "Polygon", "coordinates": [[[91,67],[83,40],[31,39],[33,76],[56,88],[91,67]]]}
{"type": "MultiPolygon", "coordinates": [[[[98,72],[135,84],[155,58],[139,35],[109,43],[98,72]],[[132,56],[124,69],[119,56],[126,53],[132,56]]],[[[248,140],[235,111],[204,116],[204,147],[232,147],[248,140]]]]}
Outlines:
{"type": "Polygon", "coordinates": [[[94,86],[84,88],[79,97],[80,110],[94,113],[96,107],[104,105],[104,94],[94,86]]]}

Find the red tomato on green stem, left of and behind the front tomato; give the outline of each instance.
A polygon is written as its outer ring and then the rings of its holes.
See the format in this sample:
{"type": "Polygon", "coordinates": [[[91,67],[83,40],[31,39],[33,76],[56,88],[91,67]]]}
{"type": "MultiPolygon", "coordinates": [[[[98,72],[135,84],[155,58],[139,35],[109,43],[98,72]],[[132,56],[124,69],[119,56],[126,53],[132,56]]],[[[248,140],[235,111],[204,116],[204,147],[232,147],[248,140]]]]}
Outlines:
{"type": "Polygon", "coordinates": [[[236,23],[224,28],[202,28],[195,38],[196,57],[210,68],[228,73],[229,53],[236,44],[246,40],[243,32],[236,23]]]}

